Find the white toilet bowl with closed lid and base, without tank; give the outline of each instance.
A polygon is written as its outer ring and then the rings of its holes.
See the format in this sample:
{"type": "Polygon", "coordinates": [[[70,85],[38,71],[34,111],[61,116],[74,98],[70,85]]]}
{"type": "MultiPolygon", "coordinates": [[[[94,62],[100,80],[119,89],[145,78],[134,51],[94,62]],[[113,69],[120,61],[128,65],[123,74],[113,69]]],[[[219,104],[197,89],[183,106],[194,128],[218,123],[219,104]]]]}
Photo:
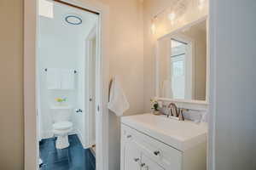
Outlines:
{"type": "Polygon", "coordinates": [[[69,146],[68,142],[68,133],[71,133],[73,130],[72,122],[55,122],[53,124],[53,133],[57,137],[56,139],[56,149],[64,149],[69,146]]]}

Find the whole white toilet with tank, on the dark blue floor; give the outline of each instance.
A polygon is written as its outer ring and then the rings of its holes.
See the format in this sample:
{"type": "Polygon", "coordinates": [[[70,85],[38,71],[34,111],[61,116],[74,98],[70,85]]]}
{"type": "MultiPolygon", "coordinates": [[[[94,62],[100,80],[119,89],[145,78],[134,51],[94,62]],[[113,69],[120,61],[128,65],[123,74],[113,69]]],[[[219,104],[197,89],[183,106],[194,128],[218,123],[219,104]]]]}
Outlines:
{"type": "Polygon", "coordinates": [[[54,136],[57,137],[55,142],[56,149],[64,149],[69,146],[68,134],[73,131],[71,122],[72,108],[70,106],[52,106],[54,136]]]}

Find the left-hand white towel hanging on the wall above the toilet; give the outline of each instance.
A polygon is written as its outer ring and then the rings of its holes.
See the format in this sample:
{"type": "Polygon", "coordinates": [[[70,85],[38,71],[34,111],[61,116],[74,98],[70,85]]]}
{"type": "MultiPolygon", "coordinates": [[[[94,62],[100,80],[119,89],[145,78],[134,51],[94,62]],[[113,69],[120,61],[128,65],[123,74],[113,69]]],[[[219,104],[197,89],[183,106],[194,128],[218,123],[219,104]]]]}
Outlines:
{"type": "Polygon", "coordinates": [[[59,69],[47,69],[47,88],[61,89],[61,74],[59,69]]]}

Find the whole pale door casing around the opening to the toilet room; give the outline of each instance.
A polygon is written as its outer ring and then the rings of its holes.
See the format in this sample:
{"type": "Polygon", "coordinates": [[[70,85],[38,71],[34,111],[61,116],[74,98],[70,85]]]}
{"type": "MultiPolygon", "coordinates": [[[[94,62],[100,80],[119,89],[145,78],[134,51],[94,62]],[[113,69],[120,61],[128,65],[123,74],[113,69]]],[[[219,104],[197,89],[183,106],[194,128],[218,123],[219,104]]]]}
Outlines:
{"type": "MultiPolygon", "coordinates": [[[[102,3],[93,0],[84,3],[73,0],[62,0],[65,3],[88,8],[100,14],[99,23],[101,30],[98,31],[101,42],[99,58],[96,62],[101,67],[97,72],[100,77],[99,93],[101,99],[99,112],[96,115],[96,169],[108,170],[108,82],[109,82],[109,8],[102,3]]],[[[38,169],[38,137],[37,137],[37,115],[36,115],[36,53],[38,33],[38,1],[24,0],[24,169],[38,169]]]]}

